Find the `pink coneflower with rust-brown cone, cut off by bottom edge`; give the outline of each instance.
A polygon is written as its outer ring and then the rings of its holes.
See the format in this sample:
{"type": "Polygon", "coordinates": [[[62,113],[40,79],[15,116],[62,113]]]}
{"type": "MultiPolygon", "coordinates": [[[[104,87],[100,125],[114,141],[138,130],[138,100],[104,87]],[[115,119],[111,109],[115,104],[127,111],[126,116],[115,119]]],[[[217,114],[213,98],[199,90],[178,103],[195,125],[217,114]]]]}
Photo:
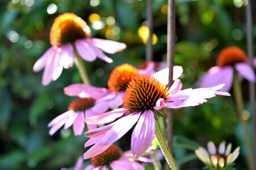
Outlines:
{"type": "Polygon", "coordinates": [[[131,151],[121,153],[120,148],[116,145],[108,147],[106,151],[102,152],[99,155],[94,156],[90,160],[91,164],[88,167],[86,167],[85,170],[107,169],[107,165],[110,165],[110,167],[113,170],[142,170],[144,168],[137,162],[153,163],[153,161],[148,158],[133,157],[131,151]]]}

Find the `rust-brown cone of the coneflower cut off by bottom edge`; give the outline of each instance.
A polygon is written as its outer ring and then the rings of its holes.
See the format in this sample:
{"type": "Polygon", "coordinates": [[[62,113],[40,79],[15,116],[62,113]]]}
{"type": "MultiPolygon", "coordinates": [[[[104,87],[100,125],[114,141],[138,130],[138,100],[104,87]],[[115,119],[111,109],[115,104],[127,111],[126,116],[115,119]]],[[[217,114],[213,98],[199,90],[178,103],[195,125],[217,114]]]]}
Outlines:
{"type": "Polygon", "coordinates": [[[109,165],[114,160],[119,159],[121,150],[116,145],[111,145],[106,151],[90,159],[91,163],[95,166],[109,165]]]}

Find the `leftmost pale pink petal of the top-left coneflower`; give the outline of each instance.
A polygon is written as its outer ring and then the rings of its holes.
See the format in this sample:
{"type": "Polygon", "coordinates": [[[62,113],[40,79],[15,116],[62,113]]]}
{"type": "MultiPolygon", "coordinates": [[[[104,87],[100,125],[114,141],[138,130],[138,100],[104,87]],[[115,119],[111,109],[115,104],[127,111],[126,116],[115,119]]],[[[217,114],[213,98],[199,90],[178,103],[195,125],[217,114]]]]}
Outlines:
{"type": "Polygon", "coordinates": [[[49,48],[44,54],[43,56],[41,56],[39,59],[37,59],[35,65],[33,65],[33,71],[38,72],[41,69],[43,69],[43,67],[45,66],[48,58],[50,56],[53,56],[55,53],[55,49],[54,47],[49,48]]]}

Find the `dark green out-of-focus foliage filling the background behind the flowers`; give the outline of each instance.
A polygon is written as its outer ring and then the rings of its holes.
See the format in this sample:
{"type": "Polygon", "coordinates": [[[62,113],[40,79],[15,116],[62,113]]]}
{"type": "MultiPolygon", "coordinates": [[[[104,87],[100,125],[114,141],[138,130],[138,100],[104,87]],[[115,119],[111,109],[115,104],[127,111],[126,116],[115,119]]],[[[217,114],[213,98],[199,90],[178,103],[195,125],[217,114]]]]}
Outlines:
{"type": "MultiPolygon", "coordinates": [[[[240,0],[177,0],[175,65],[182,65],[183,88],[215,65],[226,46],[246,50],[245,6],[240,0]]],[[[153,1],[154,60],[166,61],[167,5],[153,1]]],[[[255,5],[255,4],[254,4],[255,5]]],[[[255,6],[254,6],[255,16],[255,6]]],[[[145,61],[145,44],[139,28],[146,25],[146,1],[139,0],[3,0],[0,2],[0,169],[60,169],[72,167],[86,150],[87,139],[74,137],[72,129],[48,134],[47,124],[64,113],[74,97],[63,88],[81,82],[75,67],[64,70],[56,82],[41,85],[43,71],[32,66],[50,46],[54,18],[74,12],[90,26],[94,37],[127,44],[124,52],[109,54],[114,63],[86,62],[94,86],[106,87],[111,70],[121,63],[139,66],[145,61]]],[[[254,18],[255,19],[255,18],[254,18]]],[[[254,30],[256,27],[254,26],[254,30]]],[[[255,34],[254,34],[255,35],[255,34]]],[[[256,49],[256,48],[255,48],[256,49]]],[[[242,83],[248,105],[247,82],[242,83]]],[[[231,91],[232,94],[232,91],[231,91]]],[[[181,169],[202,169],[192,150],[207,141],[225,140],[241,146],[235,167],[247,169],[244,137],[233,97],[218,96],[208,103],[174,111],[174,156],[181,169]],[[196,142],[193,142],[196,141],[196,142]]],[[[246,109],[249,109],[247,107],[246,109]]],[[[250,117],[249,117],[250,120],[250,117]]],[[[131,134],[130,134],[131,135],[131,134]]],[[[129,134],[118,142],[123,150],[129,134]]],[[[162,162],[163,163],[163,162],[162,162]]],[[[85,165],[89,160],[85,161],[85,165]]],[[[148,165],[147,169],[153,169],[148,165]]]]}

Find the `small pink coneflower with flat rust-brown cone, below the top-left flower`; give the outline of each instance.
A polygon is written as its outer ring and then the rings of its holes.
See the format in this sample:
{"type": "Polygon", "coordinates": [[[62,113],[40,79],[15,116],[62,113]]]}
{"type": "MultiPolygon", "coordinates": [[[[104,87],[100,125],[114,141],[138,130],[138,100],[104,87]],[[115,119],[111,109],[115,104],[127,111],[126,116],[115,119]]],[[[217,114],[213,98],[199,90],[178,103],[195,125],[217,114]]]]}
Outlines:
{"type": "MultiPolygon", "coordinates": [[[[97,115],[92,111],[91,107],[94,105],[95,100],[90,97],[79,98],[74,100],[68,108],[68,111],[60,114],[49,122],[48,127],[51,127],[49,134],[53,135],[56,133],[61,126],[64,125],[64,129],[68,129],[73,125],[73,131],[75,135],[81,135],[85,128],[85,122],[83,121],[86,117],[97,115]]],[[[95,129],[97,125],[87,125],[88,130],[95,129]]]]}

